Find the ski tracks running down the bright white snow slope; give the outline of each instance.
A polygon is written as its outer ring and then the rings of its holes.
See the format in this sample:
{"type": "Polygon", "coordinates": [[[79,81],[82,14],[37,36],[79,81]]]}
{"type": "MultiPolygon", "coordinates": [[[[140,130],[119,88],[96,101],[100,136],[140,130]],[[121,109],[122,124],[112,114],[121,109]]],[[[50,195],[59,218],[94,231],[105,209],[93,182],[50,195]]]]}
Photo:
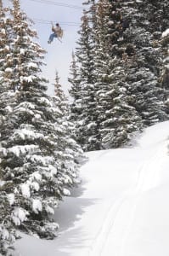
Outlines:
{"type": "Polygon", "coordinates": [[[116,201],[110,202],[104,224],[93,239],[88,256],[125,256],[125,241],[131,230],[138,200],[145,190],[155,186],[159,159],[166,150],[166,143],[160,148],[151,149],[146,156],[147,160],[139,164],[135,187],[125,191],[116,201]]]}

